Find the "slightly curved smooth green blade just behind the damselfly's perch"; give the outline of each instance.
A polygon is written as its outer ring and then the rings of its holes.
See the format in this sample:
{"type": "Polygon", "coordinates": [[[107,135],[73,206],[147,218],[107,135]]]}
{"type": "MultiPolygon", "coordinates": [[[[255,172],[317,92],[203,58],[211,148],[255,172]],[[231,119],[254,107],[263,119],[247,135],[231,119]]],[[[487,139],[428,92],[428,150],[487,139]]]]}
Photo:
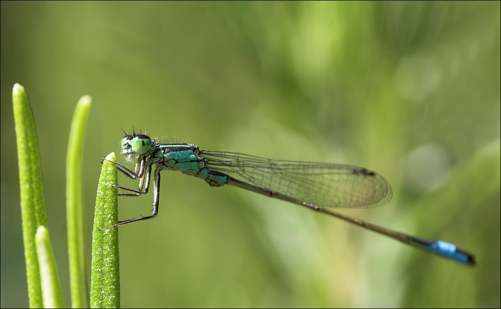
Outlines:
{"type": "Polygon", "coordinates": [[[89,307],[89,287],[85,264],[84,211],[82,207],[82,148],[91,97],[80,99],[73,114],[66,157],[66,222],[70,265],[71,304],[89,307]]]}

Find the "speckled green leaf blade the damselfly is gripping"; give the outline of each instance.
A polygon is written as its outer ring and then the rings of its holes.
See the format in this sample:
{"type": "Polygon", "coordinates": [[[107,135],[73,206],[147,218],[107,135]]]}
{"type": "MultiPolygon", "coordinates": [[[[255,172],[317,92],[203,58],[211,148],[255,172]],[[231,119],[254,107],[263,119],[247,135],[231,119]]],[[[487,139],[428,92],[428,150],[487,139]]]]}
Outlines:
{"type": "MultiPolygon", "coordinates": [[[[106,159],[116,161],[115,154],[109,154],[106,159]]],[[[99,230],[118,221],[117,189],[106,184],[118,184],[117,167],[108,161],[103,162],[99,177],[92,230],[92,308],[120,307],[118,229],[99,230]]]]}

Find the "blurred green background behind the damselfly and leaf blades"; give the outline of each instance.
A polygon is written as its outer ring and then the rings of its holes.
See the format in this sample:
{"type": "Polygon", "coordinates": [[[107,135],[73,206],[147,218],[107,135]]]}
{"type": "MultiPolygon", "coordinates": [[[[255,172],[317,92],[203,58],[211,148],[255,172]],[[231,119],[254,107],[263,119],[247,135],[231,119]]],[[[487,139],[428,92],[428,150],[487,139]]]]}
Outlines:
{"type": "MultiPolygon", "coordinates": [[[[393,200],[343,213],[478,261],[163,172],[159,216],[119,229],[123,307],[500,306],[499,2],[2,2],[1,26],[2,307],[28,305],[15,83],[35,115],[68,305],[65,156],[89,94],[89,261],[99,163],[119,153],[119,125],[201,149],[374,169],[393,200]]],[[[147,215],[151,201],[122,199],[119,217],[147,215]]]]}

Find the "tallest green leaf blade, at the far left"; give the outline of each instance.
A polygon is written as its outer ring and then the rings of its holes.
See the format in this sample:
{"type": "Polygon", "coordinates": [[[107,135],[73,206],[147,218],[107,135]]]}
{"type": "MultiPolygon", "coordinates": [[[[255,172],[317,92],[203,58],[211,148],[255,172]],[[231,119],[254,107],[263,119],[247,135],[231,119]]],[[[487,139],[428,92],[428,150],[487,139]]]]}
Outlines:
{"type": "Polygon", "coordinates": [[[14,85],[12,90],[12,105],[18,146],[21,216],[23,220],[28,295],[31,308],[42,308],[42,287],[40,286],[35,233],[38,226],[44,225],[47,227],[47,209],[45,207],[35,120],[33,119],[30,101],[25,89],[19,84],[14,85]]]}

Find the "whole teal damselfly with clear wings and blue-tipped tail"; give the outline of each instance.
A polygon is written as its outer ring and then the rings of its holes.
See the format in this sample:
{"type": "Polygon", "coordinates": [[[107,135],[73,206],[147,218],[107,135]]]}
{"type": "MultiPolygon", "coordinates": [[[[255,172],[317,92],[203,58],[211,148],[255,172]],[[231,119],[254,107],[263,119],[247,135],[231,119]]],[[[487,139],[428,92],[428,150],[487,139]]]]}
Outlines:
{"type": "MultiPolygon", "coordinates": [[[[123,130],[122,130],[123,131],[123,130]]],[[[198,146],[179,143],[157,143],[144,134],[125,131],[122,154],[130,161],[137,158],[132,171],[113,162],[126,176],[139,178],[138,190],[117,185],[129,191],[120,196],[139,196],[148,193],[153,170],[153,213],[149,216],[118,223],[101,230],[127,223],[151,219],[158,214],[160,171],[180,171],[205,180],[212,187],[235,186],[266,196],[285,200],[315,211],[337,217],[363,228],[400,240],[456,262],[475,265],[475,257],[452,243],[428,240],[396,232],[364,220],[333,211],[335,208],[364,208],[387,203],[392,197],[386,179],[369,169],[333,163],[272,160],[235,152],[200,150],[198,146]]]]}

